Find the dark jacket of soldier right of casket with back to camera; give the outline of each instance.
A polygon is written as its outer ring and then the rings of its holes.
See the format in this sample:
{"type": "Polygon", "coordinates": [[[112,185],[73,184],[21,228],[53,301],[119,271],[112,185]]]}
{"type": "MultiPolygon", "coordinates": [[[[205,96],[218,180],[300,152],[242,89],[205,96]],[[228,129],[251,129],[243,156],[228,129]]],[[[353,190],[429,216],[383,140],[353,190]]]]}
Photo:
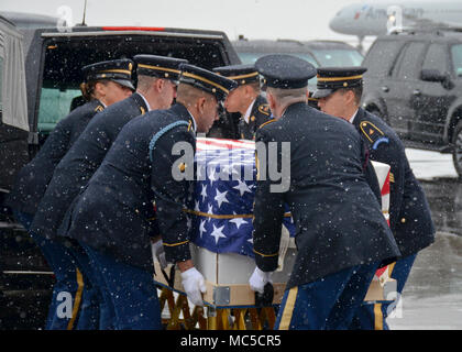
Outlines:
{"type": "MultiPolygon", "coordinates": [[[[280,180],[262,179],[264,155],[257,150],[253,243],[261,270],[277,267],[284,204],[292,211],[298,249],[287,288],[399,255],[366,182],[363,142],[353,125],[294,103],[279,120],[256,132],[260,141],[290,142],[290,187],[285,193],[270,191],[280,180]]],[[[278,150],[280,154],[280,145],[278,150]]]]}

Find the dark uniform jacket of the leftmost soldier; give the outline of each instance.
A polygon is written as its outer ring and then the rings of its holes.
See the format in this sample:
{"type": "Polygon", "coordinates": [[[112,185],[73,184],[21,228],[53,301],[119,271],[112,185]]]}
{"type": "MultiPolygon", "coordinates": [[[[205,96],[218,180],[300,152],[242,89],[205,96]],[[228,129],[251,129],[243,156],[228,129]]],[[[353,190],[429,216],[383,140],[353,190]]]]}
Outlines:
{"type": "Polygon", "coordinates": [[[34,215],[56,165],[85,130],[90,119],[103,109],[99,100],[91,100],[61,120],[35,157],[18,173],[16,183],[7,205],[18,211],[34,215]]]}

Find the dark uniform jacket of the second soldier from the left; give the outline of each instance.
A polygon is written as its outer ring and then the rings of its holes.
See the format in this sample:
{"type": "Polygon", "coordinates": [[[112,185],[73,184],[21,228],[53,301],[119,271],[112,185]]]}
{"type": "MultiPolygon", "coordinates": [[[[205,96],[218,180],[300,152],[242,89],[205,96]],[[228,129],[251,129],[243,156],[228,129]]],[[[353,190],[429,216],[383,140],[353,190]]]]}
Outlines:
{"type": "Polygon", "coordinates": [[[31,224],[31,231],[46,238],[56,235],[70,202],[99,167],[122,127],[145,111],[147,107],[143,98],[133,94],[111,105],[91,120],[56,166],[31,224]]]}

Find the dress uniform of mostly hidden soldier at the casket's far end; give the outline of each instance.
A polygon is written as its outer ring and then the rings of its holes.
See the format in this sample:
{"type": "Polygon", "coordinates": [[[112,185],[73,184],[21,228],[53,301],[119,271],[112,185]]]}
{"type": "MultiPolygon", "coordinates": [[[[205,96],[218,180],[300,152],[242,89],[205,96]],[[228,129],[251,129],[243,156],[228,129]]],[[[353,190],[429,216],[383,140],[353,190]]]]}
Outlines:
{"type": "MultiPolygon", "coordinates": [[[[238,87],[260,81],[260,75],[254,65],[232,65],[213,68],[213,72],[238,82],[238,87]]],[[[239,120],[239,135],[242,140],[255,140],[256,130],[272,120],[266,99],[258,95],[239,120]]]]}

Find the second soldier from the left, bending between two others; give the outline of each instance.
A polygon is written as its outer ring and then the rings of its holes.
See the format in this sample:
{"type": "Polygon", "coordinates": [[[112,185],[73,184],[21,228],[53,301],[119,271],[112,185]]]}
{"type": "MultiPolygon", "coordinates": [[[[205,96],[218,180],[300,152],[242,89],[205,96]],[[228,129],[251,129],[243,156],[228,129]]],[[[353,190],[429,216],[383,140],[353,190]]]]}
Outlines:
{"type": "MultiPolygon", "coordinates": [[[[47,239],[55,239],[66,210],[74,198],[86,186],[95,170],[101,164],[106,153],[112,145],[122,127],[134,117],[152,109],[166,109],[176,95],[178,65],[183,59],[136,55],[138,87],[129,98],[111,106],[85,129],[68,153],[56,166],[50,186],[40,202],[31,230],[47,239]]],[[[96,78],[107,77],[109,72],[95,72],[96,78]]],[[[66,242],[74,255],[73,261],[88,282],[96,282],[96,274],[89,263],[88,255],[74,241],[66,242]]],[[[113,309],[110,301],[98,295],[100,304],[101,329],[109,329],[113,309]]]]}

